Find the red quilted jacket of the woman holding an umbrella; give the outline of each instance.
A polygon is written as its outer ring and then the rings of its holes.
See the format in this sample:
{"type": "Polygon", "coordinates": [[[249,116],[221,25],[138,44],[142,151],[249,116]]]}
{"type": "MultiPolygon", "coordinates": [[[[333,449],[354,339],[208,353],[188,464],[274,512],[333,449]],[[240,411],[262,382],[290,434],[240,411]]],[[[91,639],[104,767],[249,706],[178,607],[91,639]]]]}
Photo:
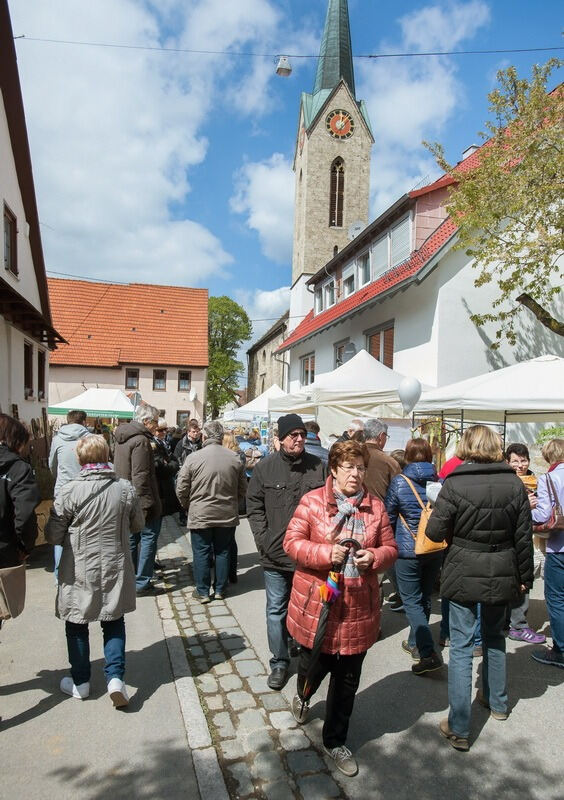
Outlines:
{"type": "MultiPolygon", "coordinates": [[[[341,577],[341,594],[329,614],[325,653],[363,653],[380,633],[378,572],[392,566],[398,551],[382,501],[366,493],[360,512],[365,526],[362,546],[372,551],[374,563],[359,577],[341,577]]],[[[319,587],[331,569],[333,544],[349,535],[335,531],[336,513],[333,478],[329,476],[325,486],[304,495],[284,537],[284,550],[296,562],[287,626],[304,647],[313,645],[322,606],[319,587]]]]}

